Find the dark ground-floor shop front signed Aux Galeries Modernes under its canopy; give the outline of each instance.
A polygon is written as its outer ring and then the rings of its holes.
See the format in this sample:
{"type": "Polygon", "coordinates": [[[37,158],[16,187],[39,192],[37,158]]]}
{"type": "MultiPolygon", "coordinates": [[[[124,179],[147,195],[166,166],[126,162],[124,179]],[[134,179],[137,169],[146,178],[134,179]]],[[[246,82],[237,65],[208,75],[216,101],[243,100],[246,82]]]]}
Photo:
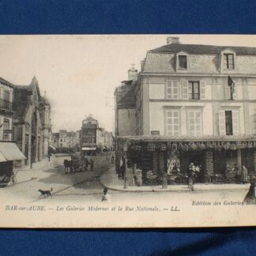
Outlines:
{"type": "MultiPolygon", "coordinates": [[[[194,166],[196,183],[239,183],[243,167],[255,179],[256,140],[246,139],[168,139],[165,137],[119,137],[119,152],[127,145],[127,160],[142,170],[142,183],[149,177],[168,175],[169,184],[186,183],[187,171],[194,166]]],[[[119,162],[119,161],[117,161],[119,162]]]]}

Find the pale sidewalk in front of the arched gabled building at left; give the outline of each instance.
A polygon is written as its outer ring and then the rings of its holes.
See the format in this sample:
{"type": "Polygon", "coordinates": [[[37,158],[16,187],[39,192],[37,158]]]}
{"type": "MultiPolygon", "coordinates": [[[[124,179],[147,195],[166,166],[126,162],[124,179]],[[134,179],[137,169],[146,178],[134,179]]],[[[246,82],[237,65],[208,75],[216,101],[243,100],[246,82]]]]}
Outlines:
{"type": "Polygon", "coordinates": [[[40,162],[33,163],[32,169],[30,165],[26,165],[24,168],[13,168],[13,171],[17,171],[17,183],[24,183],[32,179],[44,178],[47,176],[44,170],[51,168],[55,162],[55,156],[51,156],[51,161],[47,158],[40,160],[40,162]]]}

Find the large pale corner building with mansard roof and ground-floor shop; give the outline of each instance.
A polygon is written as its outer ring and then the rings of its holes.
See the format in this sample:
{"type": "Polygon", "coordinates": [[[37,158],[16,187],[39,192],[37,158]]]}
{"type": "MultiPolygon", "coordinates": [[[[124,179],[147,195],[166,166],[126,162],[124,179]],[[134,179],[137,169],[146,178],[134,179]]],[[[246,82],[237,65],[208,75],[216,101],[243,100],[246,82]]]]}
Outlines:
{"type": "MultiPolygon", "coordinates": [[[[201,180],[227,168],[256,170],[256,48],[179,43],[147,52],[134,93],[136,135],[129,145],[144,179],[201,166],[201,180]]],[[[133,99],[134,100],[134,99],[133,99]]]]}

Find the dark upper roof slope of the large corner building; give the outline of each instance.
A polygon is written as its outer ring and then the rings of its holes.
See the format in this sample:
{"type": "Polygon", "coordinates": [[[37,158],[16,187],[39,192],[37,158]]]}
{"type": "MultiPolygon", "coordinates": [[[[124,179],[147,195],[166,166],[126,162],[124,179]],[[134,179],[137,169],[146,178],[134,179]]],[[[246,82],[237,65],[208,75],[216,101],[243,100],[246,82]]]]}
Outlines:
{"type": "Polygon", "coordinates": [[[256,47],[234,47],[234,46],[215,46],[205,44],[183,44],[183,43],[169,43],[162,47],[150,50],[150,52],[161,53],[177,53],[179,51],[186,51],[189,54],[212,54],[218,55],[220,51],[225,49],[232,49],[237,55],[256,55],[256,47]]]}

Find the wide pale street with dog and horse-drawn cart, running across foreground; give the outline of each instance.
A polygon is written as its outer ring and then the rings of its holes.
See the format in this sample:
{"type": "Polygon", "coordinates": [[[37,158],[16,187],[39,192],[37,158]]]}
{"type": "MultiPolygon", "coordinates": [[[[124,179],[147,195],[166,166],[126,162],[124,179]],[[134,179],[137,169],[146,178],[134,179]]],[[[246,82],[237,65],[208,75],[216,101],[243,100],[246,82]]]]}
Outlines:
{"type": "MultiPolygon", "coordinates": [[[[50,168],[34,172],[35,178],[28,181],[17,182],[13,186],[0,188],[0,200],[24,202],[100,202],[104,186],[100,183],[100,175],[111,167],[111,157],[92,156],[94,160],[93,171],[64,173],[63,160],[69,156],[56,156],[52,158],[50,168]],[[43,198],[38,190],[51,190],[52,198],[43,198]]],[[[20,173],[22,175],[22,173],[20,173]]],[[[243,201],[247,190],[209,190],[184,192],[126,192],[109,190],[111,201],[122,204],[152,204],[152,202],[179,201],[182,204],[191,204],[192,201],[209,201],[218,198],[222,201],[243,201]]]]}

